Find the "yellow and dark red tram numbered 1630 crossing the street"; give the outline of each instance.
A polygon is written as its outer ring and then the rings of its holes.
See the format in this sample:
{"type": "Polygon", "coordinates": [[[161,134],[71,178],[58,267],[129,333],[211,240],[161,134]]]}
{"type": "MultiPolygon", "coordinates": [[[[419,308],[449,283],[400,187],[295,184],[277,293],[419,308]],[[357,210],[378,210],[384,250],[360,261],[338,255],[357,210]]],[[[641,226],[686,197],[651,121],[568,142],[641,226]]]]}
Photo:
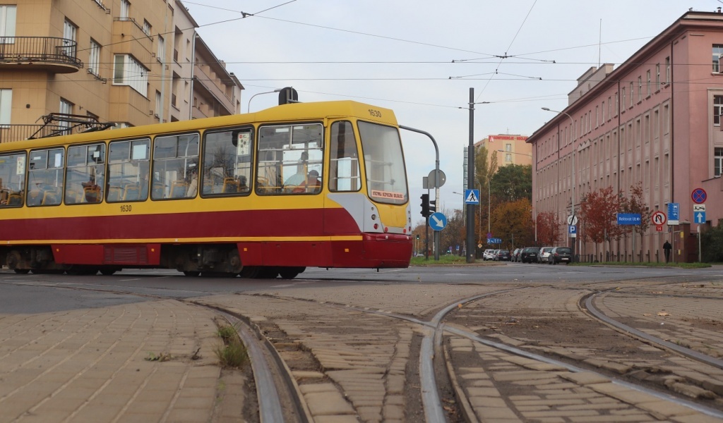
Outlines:
{"type": "Polygon", "coordinates": [[[353,101],[15,141],[0,258],[19,274],[403,268],[408,197],[393,111],[353,101]]]}

